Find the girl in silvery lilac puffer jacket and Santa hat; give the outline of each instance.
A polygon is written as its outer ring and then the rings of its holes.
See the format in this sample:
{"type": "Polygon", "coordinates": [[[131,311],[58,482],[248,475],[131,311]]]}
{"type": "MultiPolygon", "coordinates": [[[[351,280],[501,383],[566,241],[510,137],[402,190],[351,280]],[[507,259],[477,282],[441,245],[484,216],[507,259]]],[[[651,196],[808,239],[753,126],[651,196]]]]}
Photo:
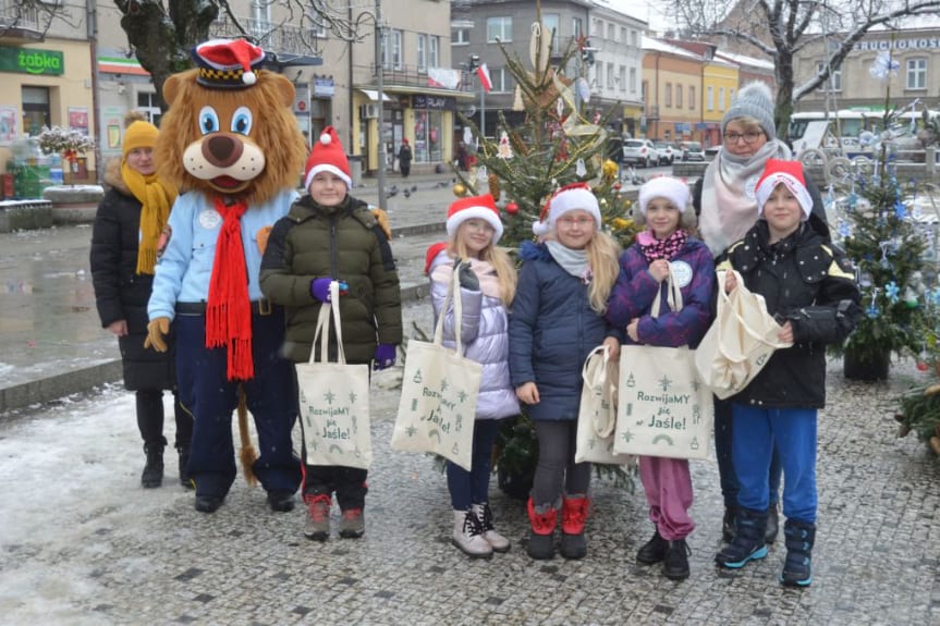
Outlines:
{"type": "Polygon", "coordinates": [[[435,321],[444,318],[444,344],[455,346],[461,324],[464,356],[483,366],[473,433],[469,471],[448,462],[448,489],[454,524],[452,543],[474,559],[506,552],[509,539],[496,531],[489,506],[489,474],[499,420],[518,415],[518,401],[509,378],[509,314],[515,296],[515,266],[496,245],[503,225],[489,194],[455,200],[448,210],[447,243],[428,249],[426,271],[431,281],[435,321]],[[463,315],[443,309],[453,272],[461,284],[463,315]]]}

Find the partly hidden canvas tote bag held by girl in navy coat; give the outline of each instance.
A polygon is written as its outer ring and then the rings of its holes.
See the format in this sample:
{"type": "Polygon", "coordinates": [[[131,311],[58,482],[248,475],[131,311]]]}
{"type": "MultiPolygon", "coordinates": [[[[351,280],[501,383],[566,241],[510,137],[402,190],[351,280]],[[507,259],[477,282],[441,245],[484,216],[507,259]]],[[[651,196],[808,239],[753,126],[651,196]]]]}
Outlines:
{"type": "Polygon", "coordinates": [[[594,348],[584,361],[575,463],[627,465],[634,461],[633,456],[613,452],[619,370],[618,361],[611,361],[610,347],[606,345],[594,348]]]}

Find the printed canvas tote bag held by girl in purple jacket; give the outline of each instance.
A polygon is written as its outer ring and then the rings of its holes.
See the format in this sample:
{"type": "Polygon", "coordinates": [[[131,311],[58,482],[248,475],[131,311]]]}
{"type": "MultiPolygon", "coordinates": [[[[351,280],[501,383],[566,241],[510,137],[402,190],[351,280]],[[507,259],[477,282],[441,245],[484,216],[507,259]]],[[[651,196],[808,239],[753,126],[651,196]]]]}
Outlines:
{"type": "MultiPolygon", "coordinates": [[[[660,293],[652,303],[654,317],[660,293]]],[[[671,267],[667,293],[669,308],[680,310],[682,293],[671,267]]],[[[686,346],[621,346],[615,453],[710,458],[713,421],[711,391],[698,380],[693,351],[686,346]]]]}

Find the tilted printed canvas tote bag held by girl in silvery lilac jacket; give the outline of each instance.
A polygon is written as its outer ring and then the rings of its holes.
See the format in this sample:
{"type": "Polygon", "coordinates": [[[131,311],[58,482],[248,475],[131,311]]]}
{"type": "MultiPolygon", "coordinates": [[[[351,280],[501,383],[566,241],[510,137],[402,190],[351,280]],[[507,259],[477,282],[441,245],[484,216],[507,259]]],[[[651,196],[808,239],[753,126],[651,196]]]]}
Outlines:
{"type": "Polygon", "coordinates": [[[392,450],[432,452],[471,469],[473,430],[483,366],[463,356],[463,316],[454,271],[432,343],[408,341],[402,397],[392,431],[392,450]],[[443,346],[444,317],[453,299],[456,351],[443,346]]]}

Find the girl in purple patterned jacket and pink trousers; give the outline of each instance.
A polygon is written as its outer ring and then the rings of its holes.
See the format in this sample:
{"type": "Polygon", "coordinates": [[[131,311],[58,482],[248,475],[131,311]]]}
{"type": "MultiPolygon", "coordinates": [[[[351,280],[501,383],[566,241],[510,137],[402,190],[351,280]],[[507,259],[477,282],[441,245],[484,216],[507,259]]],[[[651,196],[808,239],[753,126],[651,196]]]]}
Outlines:
{"type": "MultiPolygon", "coordinates": [[[[607,319],[626,329],[626,343],[695,347],[711,320],[715,261],[708,247],[689,235],[695,211],[688,186],[670,176],[651,179],[639,188],[637,222],[645,223],[646,230],[620,256],[620,278],[608,302],[607,319]],[[682,293],[679,310],[668,305],[670,270],[682,293]],[[661,305],[654,310],[659,294],[661,305]]],[[[663,575],[672,580],[688,578],[685,539],[695,528],[688,514],[688,461],[640,456],[639,476],[656,531],[636,560],[644,565],[662,563],[663,575]]]]}

